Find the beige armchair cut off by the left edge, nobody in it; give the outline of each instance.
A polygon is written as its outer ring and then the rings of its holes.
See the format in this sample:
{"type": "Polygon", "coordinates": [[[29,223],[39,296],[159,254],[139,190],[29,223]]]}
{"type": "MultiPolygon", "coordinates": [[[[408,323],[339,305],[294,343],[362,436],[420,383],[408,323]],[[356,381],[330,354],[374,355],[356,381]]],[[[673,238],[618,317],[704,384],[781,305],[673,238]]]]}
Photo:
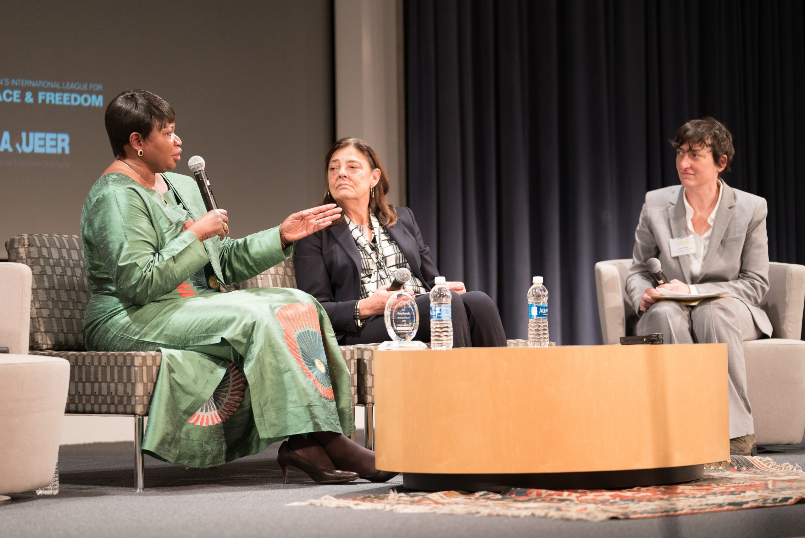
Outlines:
{"type": "Polygon", "coordinates": [[[0,494],[6,494],[53,478],[70,365],[27,354],[31,269],[0,263],[0,282],[0,347],[10,351],[0,354],[0,494]]]}

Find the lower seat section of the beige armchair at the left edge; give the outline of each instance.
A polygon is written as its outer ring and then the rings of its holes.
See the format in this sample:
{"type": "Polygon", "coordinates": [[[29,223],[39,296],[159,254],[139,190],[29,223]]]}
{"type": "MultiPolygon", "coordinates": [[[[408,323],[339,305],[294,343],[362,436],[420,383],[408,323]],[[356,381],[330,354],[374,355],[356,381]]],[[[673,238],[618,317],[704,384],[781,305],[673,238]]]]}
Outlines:
{"type": "Polygon", "coordinates": [[[0,494],[51,482],[69,378],[63,358],[0,354],[0,494]]]}

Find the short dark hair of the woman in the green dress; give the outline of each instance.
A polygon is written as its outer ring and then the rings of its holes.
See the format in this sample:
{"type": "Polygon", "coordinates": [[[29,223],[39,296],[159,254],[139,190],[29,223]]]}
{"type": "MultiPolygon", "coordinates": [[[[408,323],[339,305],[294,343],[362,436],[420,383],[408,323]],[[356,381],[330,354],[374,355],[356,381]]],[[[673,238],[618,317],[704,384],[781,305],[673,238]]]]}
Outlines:
{"type": "Polygon", "coordinates": [[[144,89],[130,89],[118,95],[106,107],[104,123],[112,153],[125,157],[123,147],[129,143],[131,133],[142,134],[147,139],[151,131],[162,130],[175,121],[173,109],[159,95],[144,89]]]}

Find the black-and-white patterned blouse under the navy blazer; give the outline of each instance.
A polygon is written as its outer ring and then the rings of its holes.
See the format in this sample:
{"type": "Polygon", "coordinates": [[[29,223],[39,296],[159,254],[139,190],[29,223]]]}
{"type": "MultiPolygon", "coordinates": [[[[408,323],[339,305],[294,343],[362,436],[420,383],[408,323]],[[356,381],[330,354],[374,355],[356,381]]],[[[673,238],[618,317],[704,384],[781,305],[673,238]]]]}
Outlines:
{"type": "MultiPolygon", "coordinates": [[[[344,215],[344,219],[349,226],[349,231],[353,234],[357,250],[361,253],[361,299],[372,295],[378,288],[392,283],[394,271],[400,267],[411,271],[405,255],[394,239],[386,234],[386,229],[380,226],[378,217],[372,215],[370,219],[369,226],[374,230],[371,242],[365,238],[363,226],[358,226],[346,215],[344,215]]],[[[412,293],[427,292],[422,280],[414,276],[414,271],[411,271],[411,280],[405,283],[403,289],[412,293]]]]}

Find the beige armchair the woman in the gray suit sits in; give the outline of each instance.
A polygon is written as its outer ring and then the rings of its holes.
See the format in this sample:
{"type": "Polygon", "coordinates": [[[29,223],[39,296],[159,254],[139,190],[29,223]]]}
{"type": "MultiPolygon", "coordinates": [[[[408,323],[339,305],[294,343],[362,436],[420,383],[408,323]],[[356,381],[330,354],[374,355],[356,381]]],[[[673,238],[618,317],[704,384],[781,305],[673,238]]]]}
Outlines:
{"type": "MultiPolygon", "coordinates": [[[[637,313],[625,293],[631,259],[596,263],[601,336],[605,344],[634,333],[637,313]]],[[[746,381],[758,445],[799,443],[805,432],[805,266],[770,263],[770,289],[761,306],[774,332],[744,342],[746,381]]]]}

